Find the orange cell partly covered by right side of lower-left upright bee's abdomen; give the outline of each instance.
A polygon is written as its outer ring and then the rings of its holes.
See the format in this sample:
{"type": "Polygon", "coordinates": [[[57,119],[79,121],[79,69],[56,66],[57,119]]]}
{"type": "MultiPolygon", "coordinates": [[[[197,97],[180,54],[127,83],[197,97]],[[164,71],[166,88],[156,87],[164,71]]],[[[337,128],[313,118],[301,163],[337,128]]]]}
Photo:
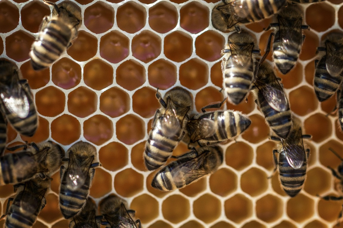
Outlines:
{"type": "Polygon", "coordinates": [[[102,197],[112,190],[112,177],[103,169],[96,169],[93,185],[90,195],[94,198],[102,197]]]}

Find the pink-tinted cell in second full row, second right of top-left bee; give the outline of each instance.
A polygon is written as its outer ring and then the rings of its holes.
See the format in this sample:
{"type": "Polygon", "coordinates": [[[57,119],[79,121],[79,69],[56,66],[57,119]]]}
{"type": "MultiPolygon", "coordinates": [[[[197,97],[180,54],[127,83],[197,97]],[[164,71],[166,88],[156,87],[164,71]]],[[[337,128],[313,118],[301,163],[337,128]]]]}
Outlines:
{"type": "Polygon", "coordinates": [[[119,31],[111,31],[100,39],[100,56],[111,63],[119,63],[129,56],[129,38],[119,31]]]}

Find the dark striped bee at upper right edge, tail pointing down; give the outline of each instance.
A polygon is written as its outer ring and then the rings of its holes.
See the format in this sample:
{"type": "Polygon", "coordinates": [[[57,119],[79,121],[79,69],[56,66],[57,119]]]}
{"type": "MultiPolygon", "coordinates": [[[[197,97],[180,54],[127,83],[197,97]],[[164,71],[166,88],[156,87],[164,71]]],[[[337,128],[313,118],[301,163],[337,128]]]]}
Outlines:
{"type": "Polygon", "coordinates": [[[317,48],[319,58],[315,60],[314,87],[320,102],[329,99],[342,82],[343,33],[331,32],[317,48]]]}

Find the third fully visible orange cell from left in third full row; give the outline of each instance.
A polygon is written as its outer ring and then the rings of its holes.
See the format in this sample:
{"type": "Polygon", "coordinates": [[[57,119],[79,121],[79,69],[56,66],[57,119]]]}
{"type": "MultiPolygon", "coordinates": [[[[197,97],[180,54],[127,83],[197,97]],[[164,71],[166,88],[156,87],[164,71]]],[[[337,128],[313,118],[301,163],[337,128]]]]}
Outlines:
{"type": "Polygon", "coordinates": [[[145,69],[137,61],[129,59],[118,66],[116,81],[122,88],[134,90],[144,84],[145,69]]]}

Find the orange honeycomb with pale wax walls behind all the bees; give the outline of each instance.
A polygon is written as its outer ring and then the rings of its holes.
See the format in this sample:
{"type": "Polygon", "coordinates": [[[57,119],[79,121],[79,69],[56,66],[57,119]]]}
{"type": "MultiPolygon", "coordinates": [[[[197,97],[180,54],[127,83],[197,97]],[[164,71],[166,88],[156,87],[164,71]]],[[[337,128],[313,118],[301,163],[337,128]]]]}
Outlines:
{"type": "MultiPolygon", "coordinates": [[[[216,0],[71,0],[82,9],[83,22],[74,44],[50,68],[35,72],[28,53],[43,16],[50,10],[39,0],[0,1],[0,57],[12,59],[32,88],[39,127],[29,138],[8,127],[8,144],[46,139],[68,149],[78,140],[92,143],[102,167],[96,170],[91,197],[98,203],[109,193],[125,198],[144,228],[326,228],[333,227],[342,201],[324,201],[337,181],[326,166],[343,156],[343,134],[335,114],[326,116],[335,97],[319,103],[312,86],[314,59],[321,37],[343,28],[342,0],[302,5],[305,43],[294,70],[277,73],[284,83],[294,115],[304,125],[311,149],[303,190],[289,198],[272,174],[269,128],[251,95],[248,103],[225,104],[249,115],[250,128],[237,142],[222,145],[224,162],[218,171],[173,191],[151,187],[155,172],[145,169],[142,153],[153,114],[159,104],[156,88],[164,94],[182,86],[193,94],[197,111],[222,100],[220,51],[228,33],[215,30],[210,12],[216,0]],[[224,183],[224,184],[223,184],[224,183]]],[[[59,3],[61,1],[57,1],[59,3]]],[[[272,20],[247,26],[264,50],[272,20]]],[[[271,59],[271,55],[268,56],[271,59]]],[[[174,155],[187,151],[180,144],[174,155]]],[[[47,195],[47,205],[35,228],[65,228],[58,210],[59,173],[47,195]]],[[[4,213],[11,185],[0,187],[4,213]]],[[[0,222],[2,225],[3,220],[0,222]]]]}

